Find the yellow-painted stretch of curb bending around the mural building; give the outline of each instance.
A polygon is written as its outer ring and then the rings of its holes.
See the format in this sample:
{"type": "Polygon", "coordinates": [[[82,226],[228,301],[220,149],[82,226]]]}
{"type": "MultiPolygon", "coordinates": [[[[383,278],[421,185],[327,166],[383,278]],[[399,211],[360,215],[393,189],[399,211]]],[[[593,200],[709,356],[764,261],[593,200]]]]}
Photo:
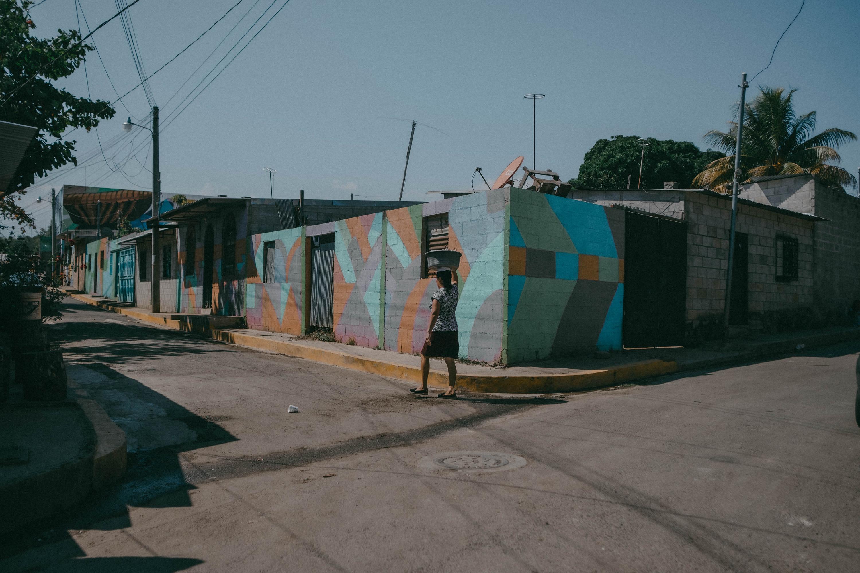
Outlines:
{"type": "MultiPolygon", "coordinates": [[[[95,307],[112,310],[125,314],[134,319],[144,320],[152,324],[170,326],[179,329],[179,320],[169,320],[166,317],[152,316],[149,313],[116,308],[95,301],[89,296],[70,294],[78,301],[86,302],[95,307]]],[[[340,366],[359,370],[368,374],[396,378],[397,380],[421,382],[421,369],[406,364],[387,363],[372,358],[356,357],[346,352],[329,351],[324,348],[295,344],[286,340],[272,340],[231,332],[212,329],[208,331],[211,338],[230,344],[241,344],[259,351],[277,352],[288,357],[304,358],[317,363],[340,366]]],[[[605,370],[586,370],[575,374],[538,375],[538,376],[506,376],[506,375],[458,375],[457,387],[472,392],[494,393],[563,393],[587,390],[591,388],[613,386],[624,382],[671,374],[678,371],[678,363],[664,360],[644,360],[638,363],[624,364],[605,370]]],[[[446,387],[448,375],[446,372],[431,369],[427,382],[434,387],[446,387]]]]}

